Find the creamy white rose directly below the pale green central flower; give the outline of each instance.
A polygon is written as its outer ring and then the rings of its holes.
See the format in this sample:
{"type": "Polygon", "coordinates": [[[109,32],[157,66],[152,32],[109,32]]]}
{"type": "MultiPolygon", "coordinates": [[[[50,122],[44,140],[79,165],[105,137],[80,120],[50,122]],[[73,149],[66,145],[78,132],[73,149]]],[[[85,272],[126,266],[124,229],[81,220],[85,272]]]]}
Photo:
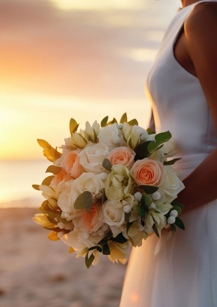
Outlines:
{"type": "Polygon", "coordinates": [[[120,200],[106,200],[102,210],[104,222],[110,226],[114,237],[117,236],[121,232],[119,227],[125,223],[125,213],[122,203],[120,200]]]}

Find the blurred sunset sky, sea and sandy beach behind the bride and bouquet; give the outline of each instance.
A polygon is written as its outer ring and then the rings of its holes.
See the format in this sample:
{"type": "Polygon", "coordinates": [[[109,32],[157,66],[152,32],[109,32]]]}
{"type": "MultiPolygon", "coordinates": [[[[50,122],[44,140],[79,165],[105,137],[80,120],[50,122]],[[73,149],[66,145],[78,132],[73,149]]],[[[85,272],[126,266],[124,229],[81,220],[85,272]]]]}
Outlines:
{"type": "MultiPolygon", "coordinates": [[[[126,266],[84,259],[34,224],[53,147],[109,115],[147,128],[148,69],[179,0],[0,0],[0,305],[118,306],[126,266]]],[[[126,306],[127,307],[127,306],[126,306]]]]}

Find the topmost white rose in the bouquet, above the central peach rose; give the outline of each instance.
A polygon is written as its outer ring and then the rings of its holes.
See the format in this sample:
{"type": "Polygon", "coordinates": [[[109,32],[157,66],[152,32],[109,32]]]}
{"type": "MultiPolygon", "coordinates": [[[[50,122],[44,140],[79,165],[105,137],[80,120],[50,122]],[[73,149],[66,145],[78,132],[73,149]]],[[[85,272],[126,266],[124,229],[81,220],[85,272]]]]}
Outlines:
{"type": "MultiPolygon", "coordinates": [[[[115,144],[112,139],[115,136],[121,136],[121,130],[118,129],[118,124],[114,123],[111,124],[110,126],[106,126],[106,127],[102,127],[99,131],[98,134],[98,139],[99,139],[99,143],[104,143],[107,144],[107,146],[109,147],[109,150],[112,150],[116,147],[118,147],[117,144],[115,144]]],[[[123,145],[121,145],[123,146],[123,145]]]]}

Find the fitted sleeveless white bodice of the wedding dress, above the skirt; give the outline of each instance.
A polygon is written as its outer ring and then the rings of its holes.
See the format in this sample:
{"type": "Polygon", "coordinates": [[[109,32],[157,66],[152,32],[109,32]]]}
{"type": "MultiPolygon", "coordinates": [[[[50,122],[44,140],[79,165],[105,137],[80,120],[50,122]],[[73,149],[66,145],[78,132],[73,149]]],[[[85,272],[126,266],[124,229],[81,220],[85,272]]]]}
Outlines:
{"type": "MultiPolygon", "coordinates": [[[[211,1],[217,0],[208,2],[211,1]]],[[[145,83],[146,94],[152,103],[156,132],[170,130],[176,140],[177,156],[183,157],[180,163],[195,159],[199,163],[217,146],[217,130],[200,81],[177,62],[173,53],[174,43],[186,17],[201,2],[207,0],[193,3],[176,13],[145,83]]]]}

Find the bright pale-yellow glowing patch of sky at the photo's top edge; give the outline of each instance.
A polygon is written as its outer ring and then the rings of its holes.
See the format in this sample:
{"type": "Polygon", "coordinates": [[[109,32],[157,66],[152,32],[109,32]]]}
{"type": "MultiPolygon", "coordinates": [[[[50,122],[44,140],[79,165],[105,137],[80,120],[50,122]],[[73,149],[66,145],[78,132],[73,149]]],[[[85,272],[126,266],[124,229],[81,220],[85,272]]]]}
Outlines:
{"type": "Polygon", "coordinates": [[[100,10],[138,7],[142,0],[49,0],[61,10],[100,10]]]}

